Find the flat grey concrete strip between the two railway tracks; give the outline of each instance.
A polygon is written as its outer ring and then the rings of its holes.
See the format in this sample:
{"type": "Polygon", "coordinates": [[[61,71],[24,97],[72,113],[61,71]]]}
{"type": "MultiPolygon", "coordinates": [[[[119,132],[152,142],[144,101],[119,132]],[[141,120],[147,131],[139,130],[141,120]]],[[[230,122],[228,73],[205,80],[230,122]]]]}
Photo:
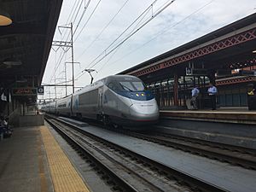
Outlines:
{"type": "Polygon", "coordinates": [[[138,154],[156,160],[182,172],[188,172],[194,177],[218,185],[226,191],[255,191],[256,172],[240,166],[232,166],[218,160],[211,160],[195,154],[189,154],[174,148],[168,148],[156,143],[129,137],[118,132],[104,130],[95,126],[79,127],[97,137],[128,148],[138,154]]]}

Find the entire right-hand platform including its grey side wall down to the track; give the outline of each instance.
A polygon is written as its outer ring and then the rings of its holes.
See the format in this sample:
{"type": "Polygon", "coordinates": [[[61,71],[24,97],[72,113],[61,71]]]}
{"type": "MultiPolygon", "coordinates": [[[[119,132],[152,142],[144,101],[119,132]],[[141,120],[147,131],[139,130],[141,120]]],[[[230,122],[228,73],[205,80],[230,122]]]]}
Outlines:
{"type": "Polygon", "coordinates": [[[158,131],[256,149],[256,111],[247,108],[161,110],[158,131]]]}

